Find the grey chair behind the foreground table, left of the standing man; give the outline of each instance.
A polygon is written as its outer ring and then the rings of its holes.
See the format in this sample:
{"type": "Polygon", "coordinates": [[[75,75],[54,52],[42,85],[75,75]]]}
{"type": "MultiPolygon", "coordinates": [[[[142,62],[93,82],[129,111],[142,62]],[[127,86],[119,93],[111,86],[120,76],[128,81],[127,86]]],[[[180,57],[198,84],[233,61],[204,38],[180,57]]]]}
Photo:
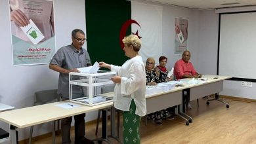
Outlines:
{"type": "MultiPolygon", "coordinates": [[[[42,105],[45,103],[51,103],[54,101],[60,101],[60,95],[57,94],[57,90],[42,90],[39,92],[35,92],[35,98],[34,98],[34,105],[42,105]]],[[[53,143],[55,143],[55,121],[53,121],[53,143]]],[[[59,123],[58,121],[58,130],[59,130],[59,123]]],[[[29,144],[32,142],[32,135],[33,135],[33,126],[30,126],[30,139],[29,144]]]]}

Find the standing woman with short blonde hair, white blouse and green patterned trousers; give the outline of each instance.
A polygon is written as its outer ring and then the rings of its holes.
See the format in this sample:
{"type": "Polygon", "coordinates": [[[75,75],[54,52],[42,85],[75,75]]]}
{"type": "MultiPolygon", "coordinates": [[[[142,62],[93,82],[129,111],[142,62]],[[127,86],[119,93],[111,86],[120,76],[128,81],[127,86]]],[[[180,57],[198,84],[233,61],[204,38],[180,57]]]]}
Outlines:
{"type": "Polygon", "coordinates": [[[139,55],[141,42],[137,35],[123,39],[125,56],[130,59],[116,66],[100,62],[100,67],[116,71],[112,77],[116,84],[114,107],[123,111],[123,143],[140,143],[140,119],[146,115],[146,72],[142,57],[139,55]]]}

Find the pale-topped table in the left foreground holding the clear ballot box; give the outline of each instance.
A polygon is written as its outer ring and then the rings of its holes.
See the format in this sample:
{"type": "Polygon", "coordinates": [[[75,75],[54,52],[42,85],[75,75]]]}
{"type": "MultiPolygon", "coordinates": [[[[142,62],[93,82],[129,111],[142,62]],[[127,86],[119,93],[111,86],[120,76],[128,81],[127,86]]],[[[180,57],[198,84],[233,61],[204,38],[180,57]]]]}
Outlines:
{"type": "Polygon", "coordinates": [[[102,105],[95,105],[93,107],[81,105],[72,109],[64,109],[57,107],[56,104],[66,103],[68,101],[59,101],[55,103],[48,103],[45,105],[36,105],[33,107],[26,107],[22,109],[15,109],[12,111],[5,111],[0,113],[0,120],[11,124],[11,143],[17,143],[18,137],[16,135],[16,128],[26,128],[36,124],[51,122],[61,118],[72,117],[81,113],[88,113],[98,109],[106,109],[112,107],[113,102],[104,103],[102,105]]]}

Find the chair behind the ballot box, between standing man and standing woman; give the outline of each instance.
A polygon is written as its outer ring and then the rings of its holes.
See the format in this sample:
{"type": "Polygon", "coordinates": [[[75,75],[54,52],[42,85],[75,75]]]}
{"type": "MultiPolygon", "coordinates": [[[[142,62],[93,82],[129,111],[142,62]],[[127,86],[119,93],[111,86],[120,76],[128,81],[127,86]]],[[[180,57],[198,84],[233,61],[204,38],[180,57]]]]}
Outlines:
{"type": "MultiPolygon", "coordinates": [[[[101,88],[101,94],[104,93],[108,93],[108,92],[114,92],[114,85],[108,85],[108,86],[104,86],[101,88]]],[[[101,113],[101,109],[98,110],[98,118],[97,118],[97,122],[96,122],[96,130],[95,130],[95,135],[98,134],[98,123],[100,121],[100,113],[101,113]]],[[[110,109],[108,109],[108,111],[110,111],[110,109]]],[[[117,137],[119,137],[119,125],[120,125],[120,112],[119,110],[116,109],[116,113],[117,113],[117,137]]]]}

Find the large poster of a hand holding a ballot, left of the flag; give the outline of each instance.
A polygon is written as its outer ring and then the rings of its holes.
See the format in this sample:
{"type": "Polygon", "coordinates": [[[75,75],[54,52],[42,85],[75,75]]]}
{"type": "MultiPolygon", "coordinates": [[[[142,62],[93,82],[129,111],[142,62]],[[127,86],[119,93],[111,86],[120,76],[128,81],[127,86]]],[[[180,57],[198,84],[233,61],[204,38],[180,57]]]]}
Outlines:
{"type": "Polygon", "coordinates": [[[13,65],[49,63],[56,52],[53,0],[9,0],[13,65]]]}

